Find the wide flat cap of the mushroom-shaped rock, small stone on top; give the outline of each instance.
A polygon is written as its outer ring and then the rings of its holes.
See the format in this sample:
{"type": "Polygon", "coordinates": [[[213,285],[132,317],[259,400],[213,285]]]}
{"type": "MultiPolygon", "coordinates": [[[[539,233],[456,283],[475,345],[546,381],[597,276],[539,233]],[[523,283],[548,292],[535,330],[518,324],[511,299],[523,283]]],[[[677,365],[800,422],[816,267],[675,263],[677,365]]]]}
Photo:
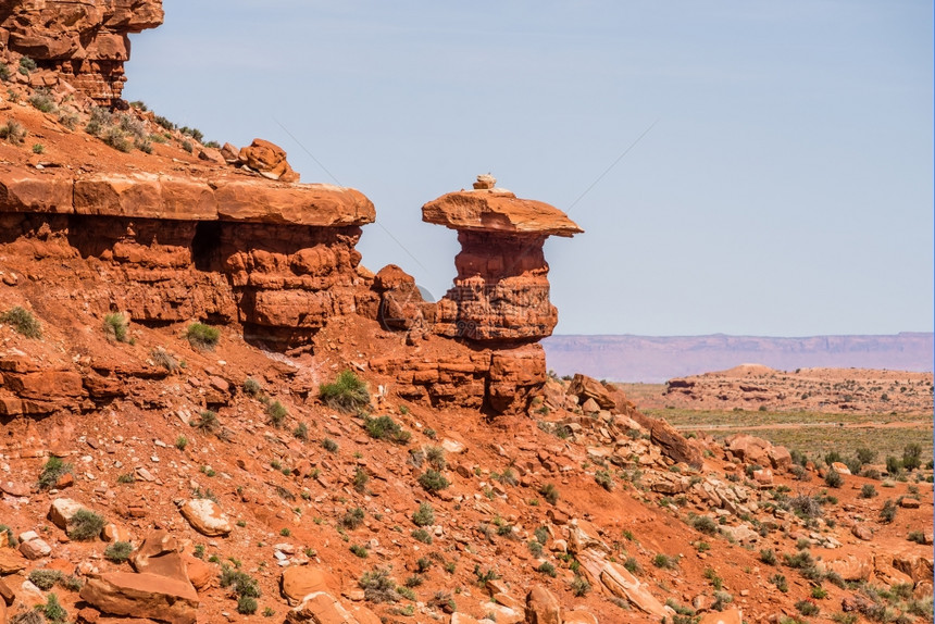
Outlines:
{"type": "Polygon", "coordinates": [[[572,237],[584,232],[558,208],[520,199],[487,175],[477,176],[473,190],[442,195],[422,207],[422,221],[451,229],[572,237]]]}

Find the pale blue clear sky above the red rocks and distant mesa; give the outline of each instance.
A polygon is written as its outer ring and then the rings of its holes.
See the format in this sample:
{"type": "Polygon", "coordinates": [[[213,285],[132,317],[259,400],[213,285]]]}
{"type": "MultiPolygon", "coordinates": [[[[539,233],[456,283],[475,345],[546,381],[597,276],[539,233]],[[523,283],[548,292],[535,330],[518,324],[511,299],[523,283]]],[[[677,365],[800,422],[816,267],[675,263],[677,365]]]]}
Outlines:
{"type": "Polygon", "coordinates": [[[364,265],[436,298],[420,208],[490,172],[586,230],[546,246],[557,333],[933,328],[931,0],[164,8],[125,97],[360,189],[364,265]]]}

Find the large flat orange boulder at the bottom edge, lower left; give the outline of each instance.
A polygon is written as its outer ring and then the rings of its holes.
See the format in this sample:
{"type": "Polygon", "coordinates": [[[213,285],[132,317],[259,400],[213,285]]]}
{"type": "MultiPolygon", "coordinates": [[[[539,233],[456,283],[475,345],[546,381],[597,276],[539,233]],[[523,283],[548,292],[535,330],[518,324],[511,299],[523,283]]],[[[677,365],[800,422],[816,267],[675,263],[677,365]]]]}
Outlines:
{"type": "Polygon", "coordinates": [[[195,624],[198,594],[188,582],[158,574],[111,572],[89,579],[82,599],[102,613],[195,624]]]}

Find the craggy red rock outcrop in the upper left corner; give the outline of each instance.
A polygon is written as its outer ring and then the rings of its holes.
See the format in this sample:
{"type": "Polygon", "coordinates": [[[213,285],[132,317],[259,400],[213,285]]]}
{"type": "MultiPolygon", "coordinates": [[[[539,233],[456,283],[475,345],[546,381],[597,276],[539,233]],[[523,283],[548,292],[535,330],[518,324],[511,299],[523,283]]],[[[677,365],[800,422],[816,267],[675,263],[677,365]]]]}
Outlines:
{"type": "Polygon", "coordinates": [[[52,73],[34,73],[28,78],[34,86],[53,84],[58,75],[99,103],[112,104],[126,83],[128,35],[155,28],[162,20],[162,0],[12,0],[0,8],[0,43],[52,73]]]}

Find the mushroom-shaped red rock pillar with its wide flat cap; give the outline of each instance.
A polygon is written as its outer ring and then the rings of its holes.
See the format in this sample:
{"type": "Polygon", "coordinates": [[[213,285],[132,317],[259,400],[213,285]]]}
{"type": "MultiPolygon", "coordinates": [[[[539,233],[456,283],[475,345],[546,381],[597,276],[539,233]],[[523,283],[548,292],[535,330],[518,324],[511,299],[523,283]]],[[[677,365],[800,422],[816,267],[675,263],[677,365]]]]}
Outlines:
{"type": "Polygon", "coordinates": [[[558,311],[549,302],[543,245],[583,232],[565,213],[508,190],[476,188],[426,203],[422,220],[457,229],[461,244],[454,287],[438,302],[437,334],[475,341],[551,335],[558,311]]]}

